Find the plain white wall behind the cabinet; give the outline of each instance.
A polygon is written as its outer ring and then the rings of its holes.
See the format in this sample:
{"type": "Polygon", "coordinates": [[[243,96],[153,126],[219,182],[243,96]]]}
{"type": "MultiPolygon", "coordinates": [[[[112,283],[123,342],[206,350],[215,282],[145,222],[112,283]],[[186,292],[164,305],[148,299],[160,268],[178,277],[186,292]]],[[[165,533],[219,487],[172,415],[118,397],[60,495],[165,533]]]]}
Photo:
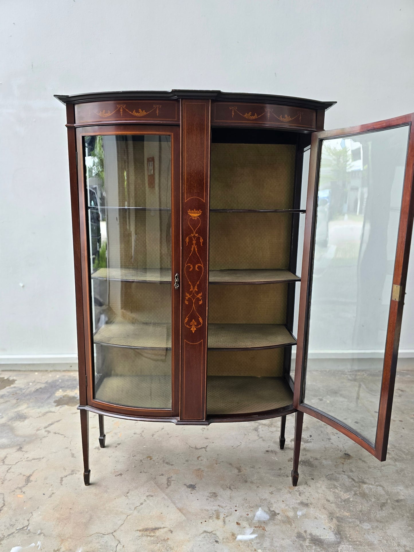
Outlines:
{"type": "Polygon", "coordinates": [[[413,28],[412,0],[3,0],[0,362],[76,359],[65,108],[53,94],[283,94],[337,100],[327,129],[368,123],[414,112],[413,28]]]}

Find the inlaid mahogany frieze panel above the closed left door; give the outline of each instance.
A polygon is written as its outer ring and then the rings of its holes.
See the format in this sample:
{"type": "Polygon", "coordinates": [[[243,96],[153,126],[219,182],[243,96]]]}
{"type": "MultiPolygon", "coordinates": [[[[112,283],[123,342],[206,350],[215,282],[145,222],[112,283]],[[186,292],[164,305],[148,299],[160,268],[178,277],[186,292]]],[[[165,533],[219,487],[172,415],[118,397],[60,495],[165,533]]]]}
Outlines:
{"type": "MultiPolygon", "coordinates": [[[[76,124],[161,123],[179,124],[179,102],[156,100],[93,102],[75,105],[76,124]]],[[[74,121],[74,122],[75,122],[74,121]]]]}

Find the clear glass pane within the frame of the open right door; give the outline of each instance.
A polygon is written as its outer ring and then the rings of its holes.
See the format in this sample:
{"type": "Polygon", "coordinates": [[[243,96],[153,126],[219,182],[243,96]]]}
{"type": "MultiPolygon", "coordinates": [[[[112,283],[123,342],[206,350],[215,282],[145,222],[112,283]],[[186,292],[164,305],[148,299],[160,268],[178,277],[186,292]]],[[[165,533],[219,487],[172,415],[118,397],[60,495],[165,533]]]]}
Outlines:
{"type": "Polygon", "coordinates": [[[305,403],[375,442],[408,127],[322,144],[305,403]]]}

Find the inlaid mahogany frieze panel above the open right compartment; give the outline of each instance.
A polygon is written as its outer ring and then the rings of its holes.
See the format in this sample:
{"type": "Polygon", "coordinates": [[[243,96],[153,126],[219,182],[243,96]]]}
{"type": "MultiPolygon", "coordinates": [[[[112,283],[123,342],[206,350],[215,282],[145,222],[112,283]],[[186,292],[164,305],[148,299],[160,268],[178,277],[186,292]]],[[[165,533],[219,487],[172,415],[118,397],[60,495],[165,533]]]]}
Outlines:
{"type": "Polygon", "coordinates": [[[289,105],[214,102],[211,124],[315,130],[316,114],[317,110],[289,105]]]}

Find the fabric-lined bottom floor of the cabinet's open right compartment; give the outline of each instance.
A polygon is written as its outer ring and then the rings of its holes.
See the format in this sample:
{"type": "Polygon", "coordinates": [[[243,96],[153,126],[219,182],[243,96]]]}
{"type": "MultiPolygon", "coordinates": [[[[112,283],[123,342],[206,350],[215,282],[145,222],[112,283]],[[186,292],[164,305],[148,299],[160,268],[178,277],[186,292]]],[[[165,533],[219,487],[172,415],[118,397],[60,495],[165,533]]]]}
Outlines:
{"type": "Polygon", "coordinates": [[[262,412],[292,403],[293,392],[284,378],[207,376],[207,415],[262,412]]]}

